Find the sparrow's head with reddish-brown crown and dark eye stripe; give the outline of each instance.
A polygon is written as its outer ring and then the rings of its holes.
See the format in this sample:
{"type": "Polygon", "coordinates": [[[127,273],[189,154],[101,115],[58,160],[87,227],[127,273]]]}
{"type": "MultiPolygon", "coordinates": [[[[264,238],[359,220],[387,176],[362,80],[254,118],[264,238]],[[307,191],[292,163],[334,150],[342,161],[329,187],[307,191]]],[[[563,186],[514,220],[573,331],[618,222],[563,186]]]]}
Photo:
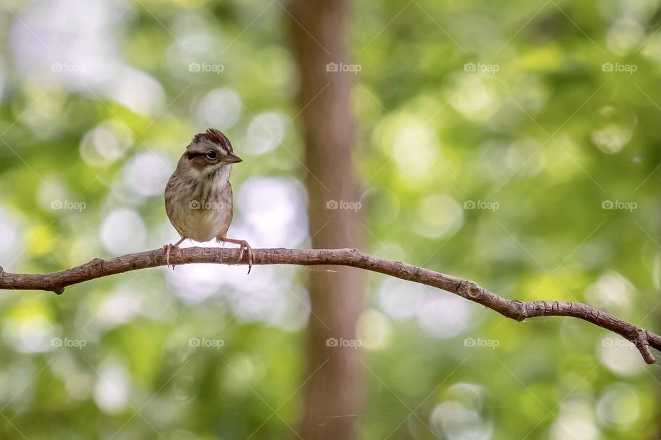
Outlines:
{"type": "Polygon", "coordinates": [[[241,162],[242,159],[234,154],[232,144],[224,134],[216,129],[207,129],[193,137],[181,161],[207,174],[220,168],[229,168],[229,165],[241,162]]]}

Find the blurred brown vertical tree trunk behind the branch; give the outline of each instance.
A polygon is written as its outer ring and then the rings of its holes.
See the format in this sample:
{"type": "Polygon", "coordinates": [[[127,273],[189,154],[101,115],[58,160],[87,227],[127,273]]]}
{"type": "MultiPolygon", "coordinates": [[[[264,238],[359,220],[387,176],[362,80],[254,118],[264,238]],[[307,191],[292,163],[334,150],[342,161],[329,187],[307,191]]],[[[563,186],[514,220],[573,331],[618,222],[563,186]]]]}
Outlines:
{"type": "MultiPolygon", "coordinates": [[[[353,74],[328,67],[329,63],[346,61],[348,1],[291,0],[288,12],[300,73],[297,102],[302,110],[313,247],[358,248],[359,214],[342,209],[339,203],[359,199],[352,160],[353,74]]],[[[359,351],[333,345],[335,341],[342,345],[342,340],[356,340],[364,280],[359,270],[336,271],[315,270],[310,274],[313,313],[308,324],[305,408],[300,427],[305,440],[353,438],[362,403],[359,351]]]]}

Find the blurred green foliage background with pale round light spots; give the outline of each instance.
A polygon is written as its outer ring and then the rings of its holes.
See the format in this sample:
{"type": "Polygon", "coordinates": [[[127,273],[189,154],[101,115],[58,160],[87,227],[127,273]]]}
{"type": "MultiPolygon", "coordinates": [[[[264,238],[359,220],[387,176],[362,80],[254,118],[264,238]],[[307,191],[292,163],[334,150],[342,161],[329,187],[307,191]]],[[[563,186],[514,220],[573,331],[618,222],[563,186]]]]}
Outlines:
{"type": "MultiPolygon", "coordinates": [[[[251,211],[249,190],[263,177],[300,214],[269,221],[305,235],[304,203],[318,201],[297,183],[281,3],[5,3],[5,270],[171,241],[160,184],[211,125],[245,159],[233,184],[249,241],[264,227],[266,201],[251,211]]],[[[355,2],[345,62],[359,66],[364,250],[658,332],[660,11],[658,0],[355,2]]],[[[178,267],[59,297],[4,292],[0,437],[292,437],[310,270],[258,267],[245,281],[241,268],[178,267]],[[260,296],[264,285],[280,299],[260,296]]],[[[660,436],[658,366],[606,331],[505,320],[375,274],[365,309],[366,410],[338,415],[359,418],[360,439],[660,436]]]]}

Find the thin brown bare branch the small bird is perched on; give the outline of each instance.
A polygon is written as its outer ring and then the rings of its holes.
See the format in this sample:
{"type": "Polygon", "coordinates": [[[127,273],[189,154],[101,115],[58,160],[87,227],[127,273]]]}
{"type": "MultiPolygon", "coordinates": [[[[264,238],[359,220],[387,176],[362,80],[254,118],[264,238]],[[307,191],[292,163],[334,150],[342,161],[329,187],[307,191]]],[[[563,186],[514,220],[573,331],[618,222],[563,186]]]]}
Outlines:
{"type": "MultiPolygon", "coordinates": [[[[237,261],[238,258],[238,249],[185,248],[174,250],[170,255],[170,263],[174,265],[248,264],[247,255],[243,256],[242,261],[237,261]]],[[[649,348],[661,351],[661,336],[587,304],[569,301],[527,301],[522,303],[517,300],[508,300],[480,287],[474,281],[434,272],[401,261],[382,259],[378,256],[364,254],[357,249],[253,249],[253,265],[273,264],[341,265],[379,272],[402,280],[443,289],[497,311],[505,318],[517,321],[538,316],[571,316],[613,331],[629,340],[638,348],[642,358],[648,364],[655,362],[649,348]]],[[[85,281],[165,265],[165,252],[151,250],[117,256],[108,260],[94,259],[90,263],[51,274],[11,274],[4,272],[0,267],[0,289],[44,290],[62,294],[65,287],[85,281]]]]}

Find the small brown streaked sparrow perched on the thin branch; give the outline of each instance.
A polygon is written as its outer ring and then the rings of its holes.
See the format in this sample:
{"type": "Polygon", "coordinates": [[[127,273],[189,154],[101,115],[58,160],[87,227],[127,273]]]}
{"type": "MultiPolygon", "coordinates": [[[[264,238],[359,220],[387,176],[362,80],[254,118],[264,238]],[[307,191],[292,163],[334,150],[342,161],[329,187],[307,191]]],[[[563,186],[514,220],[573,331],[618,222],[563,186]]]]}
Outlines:
{"type": "MultiPolygon", "coordinates": [[[[248,273],[253,267],[253,250],[245,240],[227,238],[234,207],[229,175],[232,164],[242,162],[235,155],[227,137],[216,129],[198,133],[179,159],[177,169],[165,187],[165,211],[181,235],[177,243],[165,245],[165,259],[170,264],[170,252],[185,239],[241,246],[239,261],[248,251],[248,273]]],[[[174,266],[172,267],[174,270],[174,266]]]]}

